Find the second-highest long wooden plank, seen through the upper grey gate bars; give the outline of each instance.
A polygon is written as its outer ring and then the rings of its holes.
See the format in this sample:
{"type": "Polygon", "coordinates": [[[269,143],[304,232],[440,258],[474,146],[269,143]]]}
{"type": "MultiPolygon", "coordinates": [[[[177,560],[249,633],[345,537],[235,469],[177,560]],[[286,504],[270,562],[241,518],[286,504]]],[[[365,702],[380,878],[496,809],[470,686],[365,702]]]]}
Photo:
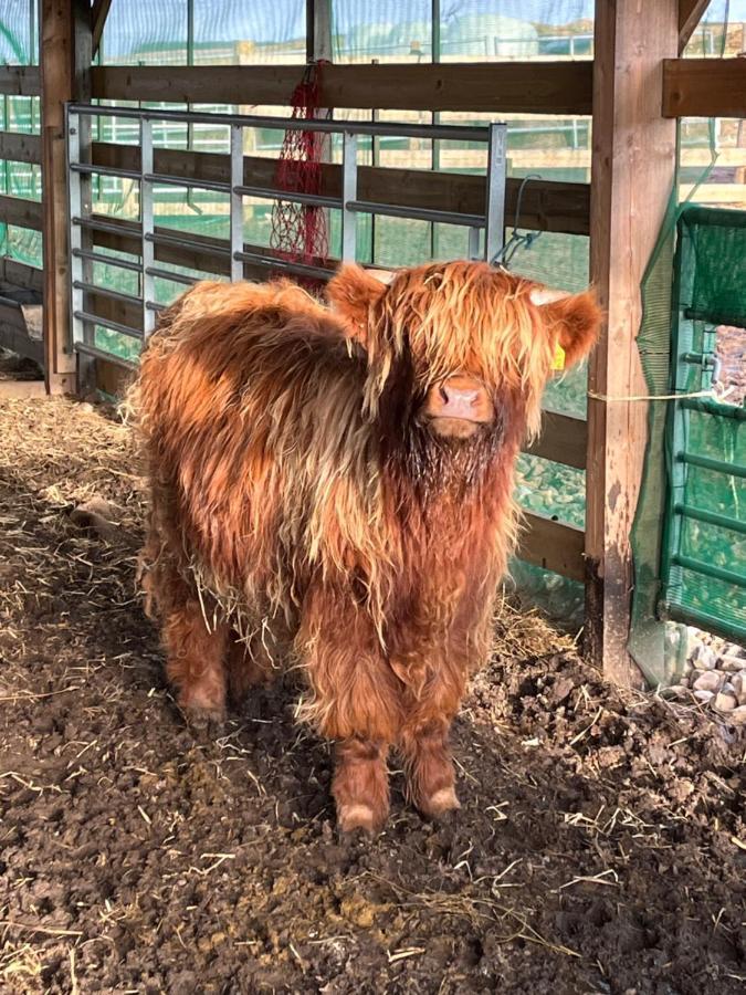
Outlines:
{"type": "MultiPolygon", "coordinates": [[[[139,149],[136,146],[95,142],[92,146],[93,163],[118,169],[139,169],[139,149]]],[[[272,187],[275,185],[276,160],[263,156],[245,156],[243,181],[246,185],[272,187]]],[[[156,172],[229,182],[228,156],[214,153],[156,149],[156,172]]],[[[509,222],[517,208],[522,180],[508,179],[505,210],[509,222]]],[[[434,208],[463,213],[484,211],[485,179],[464,172],[433,172],[424,169],[391,169],[360,166],[358,192],[361,200],[386,201],[402,207],[434,208]]],[[[322,193],[342,196],[342,167],[324,164],[322,193]]],[[[521,203],[521,223],[536,231],[559,231],[569,234],[588,234],[590,217],[590,187],[588,184],[532,180],[524,187],[521,203]]]]}

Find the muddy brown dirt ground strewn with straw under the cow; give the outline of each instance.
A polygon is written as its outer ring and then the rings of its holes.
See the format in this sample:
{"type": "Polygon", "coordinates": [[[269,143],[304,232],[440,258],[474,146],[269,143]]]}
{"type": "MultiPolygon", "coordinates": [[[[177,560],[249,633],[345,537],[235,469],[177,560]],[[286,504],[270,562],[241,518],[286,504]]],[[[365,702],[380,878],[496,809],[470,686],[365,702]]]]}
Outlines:
{"type": "Polygon", "coordinates": [[[746,733],[620,694],[505,607],[463,807],[339,839],[329,748],[262,692],[185,726],[134,570],[141,481],[91,406],[0,405],[0,991],[743,992],[746,733]],[[115,505],[104,540],[74,523],[115,505]]]}

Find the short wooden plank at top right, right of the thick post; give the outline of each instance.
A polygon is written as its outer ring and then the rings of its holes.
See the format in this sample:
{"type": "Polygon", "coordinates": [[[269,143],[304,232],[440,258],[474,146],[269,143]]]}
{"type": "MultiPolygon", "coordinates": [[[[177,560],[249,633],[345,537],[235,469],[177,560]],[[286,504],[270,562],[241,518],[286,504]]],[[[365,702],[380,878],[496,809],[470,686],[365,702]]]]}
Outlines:
{"type": "Polygon", "coordinates": [[[664,59],[664,117],[743,117],[746,59],[664,59]]]}

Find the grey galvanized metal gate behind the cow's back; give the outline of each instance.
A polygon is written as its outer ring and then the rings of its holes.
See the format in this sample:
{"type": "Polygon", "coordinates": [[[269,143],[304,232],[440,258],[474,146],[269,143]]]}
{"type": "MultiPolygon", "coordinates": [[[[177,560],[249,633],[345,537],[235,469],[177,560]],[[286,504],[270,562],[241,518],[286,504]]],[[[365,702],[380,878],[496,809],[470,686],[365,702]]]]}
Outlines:
{"type": "MultiPolygon", "coordinates": [[[[360,214],[381,214],[430,222],[463,226],[469,229],[469,251],[471,258],[483,256],[494,260],[504,241],[504,203],[506,186],[506,125],[491,124],[486,127],[462,127],[454,125],[408,125],[383,123],[358,123],[335,121],[290,119],[284,117],[260,117],[251,115],[199,114],[167,109],[136,109],[133,107],[95,106],[92,104],[67,105],[67,155],[70,186],[70,248],[71,248],[71,323],[73,347],[81,356],[107,358],[126,366],[133,363],[117,359],[96,346],[96,327],[107,328],[132,338],[147,338],[156,323],[157,312],[165,305],[157,301],[156,283],[160,280],[182,284],[195,283],[192,277],[178,270],[165,269],[156,264],[156,247],[166,244],[185,251],[203,249],[203,243],[190,239],[185,232],[156,230],[155,205],[158,188],[181,187],[187,189],[212,190],[227,195],[230,200],[230,239],[211,251],[230,260],[231,280],[242,280],[244,263],[265,266],[271,272],[314,276],[328,280],[333,270],[292,263],[279,259],[269,250],[246,251],[243,240],[244,198],[285,200],[313,205],[342,212],[342,259],[353,261],[356,255],[357,219],[360,214]],[[91,123],[94,118],[130,119],[139,127],[139,168],[125,169],[104,166],[91,161],[88,140],[91,123]],[[154,123],[164,126],[168,122],[182,124],[209,124],[224,126],[230,134],[230,181],[208,181],[191,179],[154,169],[154,123]],[[338,134],[343,137],[342,196],[327,197],[293,193],[266,186],[252,186],[244,176],[244,133],[250,128],[288,128],[338,134]],[[487,146],[487,179],[484,214],[469,214],[414,207],[401,207],[387,202],[360,200],[358,189],[358,137],[376,138],[420,138],[428,140],[475,142],[487,146]],[[139,188],[139,221],[130,226],[139,240],[139,262],[103,254],[94,247],[95,234],[120,234],[122,222],[94,216],[87,181],[92,175],[134,180],[139,188]],[[120,266],[138,274],[137,294],[104,287],[95,283],[94,265],[102,263],[120,266]],[[136,306],[141,313],[141,328],[113,321],[94,313],[91,295],[103,295],[128,307],[136,306]]],[[[216,155],[216,159],[220,158],[216,155]]]]}

